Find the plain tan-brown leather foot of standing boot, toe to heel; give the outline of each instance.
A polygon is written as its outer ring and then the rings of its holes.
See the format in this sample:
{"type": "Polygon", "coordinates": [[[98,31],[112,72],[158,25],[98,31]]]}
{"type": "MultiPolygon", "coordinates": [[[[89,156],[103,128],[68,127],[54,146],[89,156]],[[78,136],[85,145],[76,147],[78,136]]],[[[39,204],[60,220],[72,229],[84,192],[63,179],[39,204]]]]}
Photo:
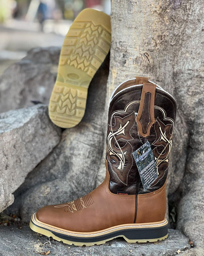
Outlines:
{"type": "MultiPolygon", "coordinates": [[[[36,213],[37,219],[76,232],[93,232],[134,223],[135,195],[111,193],[109,178],[106,169],[105,180],[91,193],[68,203],[44,206],[36,213]]],[[[137,201],[139,205],[135,223],[157,222],[165,218],[165,185],[156,192],[137,195],[137,201]]]]}

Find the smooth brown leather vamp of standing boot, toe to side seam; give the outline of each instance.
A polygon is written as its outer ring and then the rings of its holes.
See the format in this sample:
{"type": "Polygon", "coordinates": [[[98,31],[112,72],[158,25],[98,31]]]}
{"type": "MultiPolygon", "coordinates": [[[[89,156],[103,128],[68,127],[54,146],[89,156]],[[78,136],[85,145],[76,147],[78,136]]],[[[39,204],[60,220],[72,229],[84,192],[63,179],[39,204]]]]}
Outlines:
{"type": "Polygon", "coordinates": [[[38,210],[39,221],[70,231],[93,232],[120,224],[134,223],[135,196],[116,195],[104,181],[91,193],[64,204],[38,210]]]}

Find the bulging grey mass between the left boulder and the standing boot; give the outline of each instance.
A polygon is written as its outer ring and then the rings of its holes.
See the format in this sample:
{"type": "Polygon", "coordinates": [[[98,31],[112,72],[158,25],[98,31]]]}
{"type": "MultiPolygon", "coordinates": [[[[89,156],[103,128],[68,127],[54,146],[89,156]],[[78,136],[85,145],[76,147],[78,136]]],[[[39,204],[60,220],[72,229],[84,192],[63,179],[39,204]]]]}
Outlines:
{"type": "MultiPolygon", "coordinates": [[[[108,78],[108,57],[91,81],[85,116],[75,127],[64,130],[62,140],[15,192],[7,213],[25,222],[44,205],[71,201],[93,190],[103,158],[102,117],[108,78]]],[[[103,159],[103,165],[104,159],[103,159]]]]}

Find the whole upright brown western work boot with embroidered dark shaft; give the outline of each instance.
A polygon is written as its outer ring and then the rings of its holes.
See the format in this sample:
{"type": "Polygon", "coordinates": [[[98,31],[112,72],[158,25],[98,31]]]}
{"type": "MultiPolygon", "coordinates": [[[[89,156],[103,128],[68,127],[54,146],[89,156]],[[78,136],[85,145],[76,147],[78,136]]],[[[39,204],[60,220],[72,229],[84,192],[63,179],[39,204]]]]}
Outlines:
{"type": "Polygon", "coordinates": [[[105,180],[81,198],[39,209],[31,229],[75,245],[165,239],[175,117],[173,97],[147,78],[119,85],[109,104],[105,180]]]}

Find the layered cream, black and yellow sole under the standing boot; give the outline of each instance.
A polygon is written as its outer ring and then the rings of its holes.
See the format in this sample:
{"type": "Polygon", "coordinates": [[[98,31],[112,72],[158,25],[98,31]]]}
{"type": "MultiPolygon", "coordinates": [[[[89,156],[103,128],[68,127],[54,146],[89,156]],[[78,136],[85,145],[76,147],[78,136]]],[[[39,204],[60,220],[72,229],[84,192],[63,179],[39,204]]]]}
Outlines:
{"type": "Polygon", "coordinates": [[[166,219],[154,223],[123,224],[96,232],[82,233],[43,223],[36,218],[36,214],[33,214],[30,228],[57,241],[77,246],[104,244],[117,237],[123,237],[128,243],[157,242],[168,237],[168,221],[166,219]]]}

